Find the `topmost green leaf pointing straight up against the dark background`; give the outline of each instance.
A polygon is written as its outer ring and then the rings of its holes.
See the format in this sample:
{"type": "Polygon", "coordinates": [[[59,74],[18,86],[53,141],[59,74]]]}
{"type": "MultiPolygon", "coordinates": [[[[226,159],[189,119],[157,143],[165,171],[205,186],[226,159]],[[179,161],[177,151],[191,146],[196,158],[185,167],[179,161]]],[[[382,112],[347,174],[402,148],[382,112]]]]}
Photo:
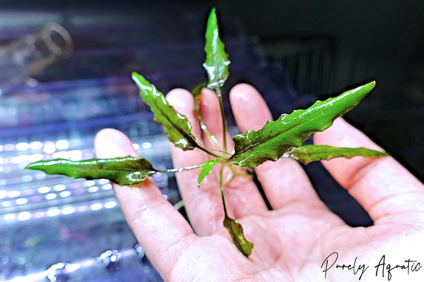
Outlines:
{"type": "Polygon", "coordinates": [[[212,8],[209,14],[205,38],[206,60],[204,68],[208,74],[208,87],[222,87],[229,75],[230,60],[228,60],[228,54],[225,53],[224,44],[219,37],[215,8],[212,8]]]}

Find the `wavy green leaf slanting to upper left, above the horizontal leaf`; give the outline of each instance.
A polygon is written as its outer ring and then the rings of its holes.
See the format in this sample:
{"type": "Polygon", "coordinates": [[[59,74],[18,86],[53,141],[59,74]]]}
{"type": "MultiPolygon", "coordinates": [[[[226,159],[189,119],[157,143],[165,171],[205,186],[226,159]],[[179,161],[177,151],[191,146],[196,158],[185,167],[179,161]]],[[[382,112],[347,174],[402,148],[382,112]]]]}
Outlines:
{"type": "Polygon", "coordinates": [[[154,120],[164,126],[169,140],[184,150],[197,147],[196,138],[192,135],[192,124],[187,117],[175,111],[165,96],[143,76],[132,73],[132,79],[139,87],[141,98],[155,114],[154,120]]]}

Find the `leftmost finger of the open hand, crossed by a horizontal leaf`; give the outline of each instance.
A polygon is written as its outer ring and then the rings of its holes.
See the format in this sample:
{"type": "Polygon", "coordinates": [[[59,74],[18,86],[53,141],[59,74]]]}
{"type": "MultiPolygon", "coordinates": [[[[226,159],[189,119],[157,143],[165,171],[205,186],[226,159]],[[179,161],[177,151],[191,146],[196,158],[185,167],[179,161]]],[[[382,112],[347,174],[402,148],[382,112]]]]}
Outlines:
{"type": "MultiPolygon", "coordinates": [[[[131,141],[118,130],[100,130],[95,137],[99,158],[137,157],[131,141]]],[[[112,183],[119,206],[134,235],[159,273],[167,276],[196,235],[184,217],[167,202],[148,178],[143,183],[120,186],[112,183]]]]}

